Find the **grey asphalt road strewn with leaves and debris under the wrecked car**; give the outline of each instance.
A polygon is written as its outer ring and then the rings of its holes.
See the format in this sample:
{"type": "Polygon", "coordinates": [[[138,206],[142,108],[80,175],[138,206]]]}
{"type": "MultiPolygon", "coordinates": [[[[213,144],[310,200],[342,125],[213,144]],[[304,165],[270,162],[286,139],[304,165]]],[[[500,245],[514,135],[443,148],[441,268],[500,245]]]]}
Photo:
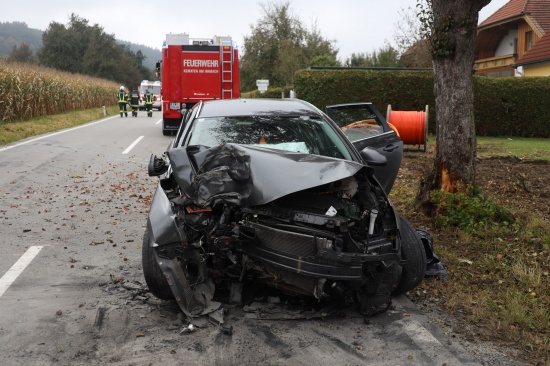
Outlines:
{"type": "Polygon", "coordinates": [[[143,286],[141,245],[162,154],[160,112],[108,117],[0,147],[0,365],[517,365],[406,297],[367,322],[256,319],[233,334],[143,286]]]}

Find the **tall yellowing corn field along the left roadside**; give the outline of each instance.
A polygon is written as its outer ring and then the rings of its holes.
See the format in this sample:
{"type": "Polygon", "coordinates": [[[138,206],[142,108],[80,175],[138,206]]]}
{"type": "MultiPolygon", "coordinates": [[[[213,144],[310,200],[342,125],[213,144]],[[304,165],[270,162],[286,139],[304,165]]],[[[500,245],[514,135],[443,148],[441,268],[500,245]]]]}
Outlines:
{"type": "Polygon", "coordinates": [[[0,123],[117,104],[114,82],[0,58],[0,123]]]}

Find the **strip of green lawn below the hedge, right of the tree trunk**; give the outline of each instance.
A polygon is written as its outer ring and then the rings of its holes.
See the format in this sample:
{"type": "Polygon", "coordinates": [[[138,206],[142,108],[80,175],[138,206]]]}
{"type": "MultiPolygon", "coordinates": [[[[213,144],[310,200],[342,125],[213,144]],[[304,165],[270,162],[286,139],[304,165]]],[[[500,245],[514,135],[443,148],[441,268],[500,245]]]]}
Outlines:
{"type": "Polygon", "coordinates": [[[550,139],[478,137],[477,155],[482,157],[517,156],[518,158],[532,160],[550,160],[550,139]]]}

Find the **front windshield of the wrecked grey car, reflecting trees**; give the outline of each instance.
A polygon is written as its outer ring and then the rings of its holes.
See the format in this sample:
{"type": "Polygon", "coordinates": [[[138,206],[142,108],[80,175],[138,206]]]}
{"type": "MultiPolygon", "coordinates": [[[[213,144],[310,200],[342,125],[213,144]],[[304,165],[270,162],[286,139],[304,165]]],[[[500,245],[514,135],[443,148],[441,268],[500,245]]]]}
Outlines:
{"type": "Polygon", "coordinates": [[[352,160],[331,125],[308,116],[213,117],[194,121],[187,145],[214,147],[222,143],[352,160]]]}

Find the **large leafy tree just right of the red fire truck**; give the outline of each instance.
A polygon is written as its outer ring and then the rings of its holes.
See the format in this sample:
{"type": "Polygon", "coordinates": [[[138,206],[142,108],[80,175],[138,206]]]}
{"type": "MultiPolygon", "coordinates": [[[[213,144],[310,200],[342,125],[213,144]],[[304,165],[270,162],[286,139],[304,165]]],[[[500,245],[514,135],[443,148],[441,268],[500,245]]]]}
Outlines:
{"type": "Polygon", "coordinates": [[[244,37],[240,59],[241,88],[256,88],[256,80],[268,79],[270,86],[291,85],[294,73],[316,61],[334,62],[338,50],[314,25],[311,29],[290,12],[290,2],[261,5],[263,17],[251,25],[244,37]]]}

